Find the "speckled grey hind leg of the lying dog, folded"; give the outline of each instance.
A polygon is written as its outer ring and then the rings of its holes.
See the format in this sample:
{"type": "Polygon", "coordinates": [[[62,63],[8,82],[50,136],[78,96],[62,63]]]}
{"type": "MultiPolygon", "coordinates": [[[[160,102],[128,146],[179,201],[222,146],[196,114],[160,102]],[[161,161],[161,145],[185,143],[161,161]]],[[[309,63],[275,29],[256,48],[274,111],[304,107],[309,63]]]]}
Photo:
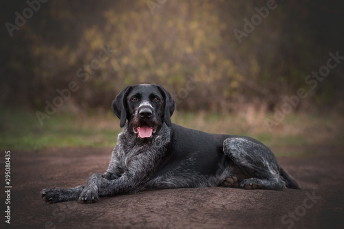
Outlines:
{"type": "Polygon", "coordinates": [[[285,188],[286,183],[280,176],[281,166],[275,155],[261,142],[246,137],[227,138],[224,140],[224,154],[233,161],[238,177],[228,177],[222,186],[227,184],[246,189],[271,190],[285,188]]]}

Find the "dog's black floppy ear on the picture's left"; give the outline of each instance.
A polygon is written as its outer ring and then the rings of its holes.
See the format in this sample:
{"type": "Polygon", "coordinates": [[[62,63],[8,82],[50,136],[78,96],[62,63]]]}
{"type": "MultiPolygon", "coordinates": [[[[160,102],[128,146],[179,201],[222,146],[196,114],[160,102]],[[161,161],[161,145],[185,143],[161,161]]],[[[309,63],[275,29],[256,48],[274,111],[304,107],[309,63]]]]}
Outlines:
{"type": "Polygon", "coordinates": [[[125,87],[123,91],[120,91],[112,102],[112,110],[116,114],[116,116],[120,119],[120,127],[125,126],[125,122],[127,122],[127,96],[131,91],[131,86],[125,87]]]}

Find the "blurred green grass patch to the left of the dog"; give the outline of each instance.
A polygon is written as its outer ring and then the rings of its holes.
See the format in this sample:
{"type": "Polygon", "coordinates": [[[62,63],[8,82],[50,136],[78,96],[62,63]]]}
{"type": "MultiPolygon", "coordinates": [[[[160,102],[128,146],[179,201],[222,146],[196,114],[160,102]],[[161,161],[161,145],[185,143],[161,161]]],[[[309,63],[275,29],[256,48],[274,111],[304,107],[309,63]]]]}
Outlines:
{"type": "MultiPolygon", "coordinates": [[[[56,113],[39,123],[34,111],[1,111],[1,149],[36,150],[49,147],[113,147],[117,134],[116,117],[105,114],[97,123],[92,116],[76,116],[70,113],[56,113]],[[100,126],[102,125],[102,126],[100,126]]],[[[100,118],[100,117],[99,117],[100,118]]]]}

